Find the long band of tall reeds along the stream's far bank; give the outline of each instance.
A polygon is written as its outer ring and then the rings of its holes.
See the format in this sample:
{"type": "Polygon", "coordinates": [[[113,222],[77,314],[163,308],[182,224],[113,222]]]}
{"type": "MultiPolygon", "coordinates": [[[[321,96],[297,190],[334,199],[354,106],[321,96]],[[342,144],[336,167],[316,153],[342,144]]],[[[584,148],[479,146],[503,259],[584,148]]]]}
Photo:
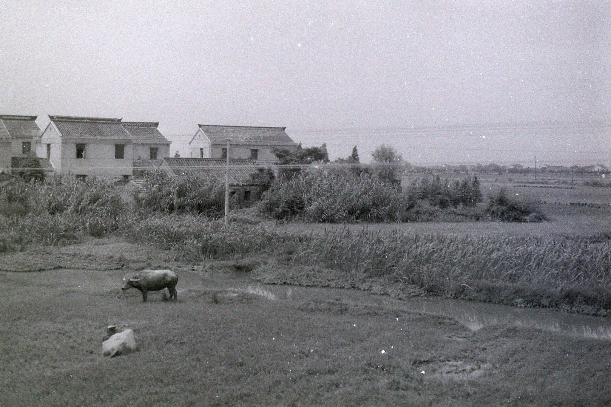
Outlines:
{"type": "Polygon", "coordinates": [[[472,282],[555,289],[611,290],[611,245],[538,237],[459,237],[400,231],[321,234],[278,232],[261,225],[194,215],[132,218],[123,234],[135,242],[180,250],[191,258],[266,254],[287,264],[321,265],[365,278],[387,277],[428,292],[458,295],[472,282]]]}

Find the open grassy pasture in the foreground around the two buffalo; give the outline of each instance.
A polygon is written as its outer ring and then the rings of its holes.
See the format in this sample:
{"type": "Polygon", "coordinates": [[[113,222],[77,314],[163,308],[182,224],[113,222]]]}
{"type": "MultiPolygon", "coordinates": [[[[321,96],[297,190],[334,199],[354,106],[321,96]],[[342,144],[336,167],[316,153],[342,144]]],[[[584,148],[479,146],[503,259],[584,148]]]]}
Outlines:
{"type": "Polygon", "coordinates": [[[611,405],[609,339],[175,260],[112,239],[0,256],[0,406],[611,405]],[[120,292],[149,266],[177,271],[177,302],[120,292]],[[117,323],[139,351],[104,357],[117,323]]]}

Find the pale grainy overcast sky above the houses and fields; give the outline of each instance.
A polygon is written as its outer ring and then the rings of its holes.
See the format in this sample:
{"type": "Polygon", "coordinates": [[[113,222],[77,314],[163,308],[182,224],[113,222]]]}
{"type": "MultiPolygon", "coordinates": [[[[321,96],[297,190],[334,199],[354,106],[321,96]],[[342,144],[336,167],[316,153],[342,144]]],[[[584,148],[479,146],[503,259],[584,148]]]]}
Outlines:
{"type": "MultiPolygon", "coordinates": [[[[41,126],[48,114],[159,121],[166,135],[287,126],[331,155],[396,141],[409,156],[397,129],[611,120],[610,1],[5,0],[0,15],[0,112],[41,126]]],[[[598,127],[580,154],[609,165],[598,127]]]]}

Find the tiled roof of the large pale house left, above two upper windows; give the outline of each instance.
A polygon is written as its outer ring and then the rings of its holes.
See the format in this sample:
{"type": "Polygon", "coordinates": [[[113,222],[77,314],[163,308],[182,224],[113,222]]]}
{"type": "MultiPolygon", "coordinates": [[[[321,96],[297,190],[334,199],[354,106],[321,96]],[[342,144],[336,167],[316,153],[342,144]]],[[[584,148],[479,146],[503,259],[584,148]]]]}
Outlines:
{"type": "Polygon", "coordinates": [[[49,119],[67,139],[131,140],[121,119],[51,115],[49,119]]]}

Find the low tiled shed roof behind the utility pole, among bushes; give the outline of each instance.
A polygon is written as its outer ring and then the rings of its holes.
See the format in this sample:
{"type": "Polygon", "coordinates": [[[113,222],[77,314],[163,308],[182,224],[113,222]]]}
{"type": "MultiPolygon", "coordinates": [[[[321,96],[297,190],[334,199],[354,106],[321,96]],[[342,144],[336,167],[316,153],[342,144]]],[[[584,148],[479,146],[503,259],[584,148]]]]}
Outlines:
{"type": "MultiPolygon", "coordinates": [[[[162,167],[172,175],[197,173],[225,182],[226,160],[211,158],[166,158],[162,167]]],[[[229,184],[254,185],[252,176],[258,172],[251,160],[229,160],[229,184]]]]}

